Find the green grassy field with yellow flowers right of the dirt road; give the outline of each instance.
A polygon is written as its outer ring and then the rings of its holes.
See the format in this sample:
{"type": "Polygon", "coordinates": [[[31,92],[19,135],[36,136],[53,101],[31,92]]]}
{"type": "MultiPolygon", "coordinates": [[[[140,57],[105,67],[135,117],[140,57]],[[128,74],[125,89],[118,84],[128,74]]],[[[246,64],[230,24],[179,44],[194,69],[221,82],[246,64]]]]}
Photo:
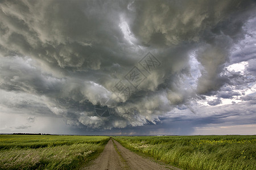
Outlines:
{"type": "Polygon", "coordinates": [[[182,169],[256,169],[256,136],[113,137],[135,152],[182,169]]]}

